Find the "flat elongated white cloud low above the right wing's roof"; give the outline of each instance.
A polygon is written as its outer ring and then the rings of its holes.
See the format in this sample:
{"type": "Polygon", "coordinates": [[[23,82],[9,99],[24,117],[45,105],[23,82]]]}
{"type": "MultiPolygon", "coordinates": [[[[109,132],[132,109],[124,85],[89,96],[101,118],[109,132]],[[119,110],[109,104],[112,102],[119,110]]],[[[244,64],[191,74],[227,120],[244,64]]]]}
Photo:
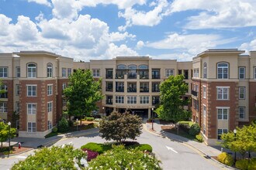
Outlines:
{"type": "Polygon", "coordinates": [[[192,55],[201,53],[202,51],[216,46],[233,42],[234,39],[223,39],[223,37],[215,34],[191,34],[179,35],[172,33],[166,39],[157,42],[147,43],[145,46],[154,49],[178,49],[184,50],[192,55]]]}

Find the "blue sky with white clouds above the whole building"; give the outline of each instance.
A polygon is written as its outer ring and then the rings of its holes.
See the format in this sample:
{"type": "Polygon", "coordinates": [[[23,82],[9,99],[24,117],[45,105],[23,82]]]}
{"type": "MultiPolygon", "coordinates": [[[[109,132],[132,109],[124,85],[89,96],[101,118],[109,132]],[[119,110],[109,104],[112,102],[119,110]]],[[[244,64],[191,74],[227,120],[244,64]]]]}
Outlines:
{"type": "Polygon", "coordinates": [[[207,49],[256,50],[255,0],[0,0],[0,53],[74,60],[190,61],[207,49]]]}

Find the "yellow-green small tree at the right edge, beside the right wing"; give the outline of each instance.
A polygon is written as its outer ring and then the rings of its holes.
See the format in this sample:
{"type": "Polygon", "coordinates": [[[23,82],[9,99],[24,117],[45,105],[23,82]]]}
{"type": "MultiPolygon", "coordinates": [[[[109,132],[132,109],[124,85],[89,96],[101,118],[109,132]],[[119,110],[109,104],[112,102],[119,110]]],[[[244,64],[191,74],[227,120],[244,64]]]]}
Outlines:
{"type": "Polygon", "coordinates": [[[243,158],[248,151],[250,158],[251,151],[256,151],[256,124],[252,123],[249,126],[236,129],[236,137],[233,131],[221,135],[221,145],[231,151],[239,152],[243,158]]]}

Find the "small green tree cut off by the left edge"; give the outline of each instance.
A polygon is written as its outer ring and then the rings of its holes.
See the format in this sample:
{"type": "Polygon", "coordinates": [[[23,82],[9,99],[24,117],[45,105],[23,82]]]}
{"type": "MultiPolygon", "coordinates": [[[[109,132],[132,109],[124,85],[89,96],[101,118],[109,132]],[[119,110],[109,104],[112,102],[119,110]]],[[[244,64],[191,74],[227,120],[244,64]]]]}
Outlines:
{"type": "Polygon", "coordinates": [[[16,128],[10,128],[9,125],[5,124],[4,122],[0,122],[0,141],[1,141],[1,148],[2,142],[7,141],[8,138],[14,138],[16,135],[16,128]],[[9,133],[10,131],[10,133],[9,133]]]}

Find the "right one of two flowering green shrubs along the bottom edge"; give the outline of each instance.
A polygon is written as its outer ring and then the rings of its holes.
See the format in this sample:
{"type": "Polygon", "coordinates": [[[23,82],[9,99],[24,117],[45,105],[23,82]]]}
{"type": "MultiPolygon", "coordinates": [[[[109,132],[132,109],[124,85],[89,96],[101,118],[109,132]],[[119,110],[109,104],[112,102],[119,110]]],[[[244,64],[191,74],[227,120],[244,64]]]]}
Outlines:
{"type": "Polygon", "coordinates": [[[111,151],[99,155],[88,162],[91,169],[161,169],[160,161],[154,157],[138,151],[126,150],[123,145],[114,146],[111,151]]]}

